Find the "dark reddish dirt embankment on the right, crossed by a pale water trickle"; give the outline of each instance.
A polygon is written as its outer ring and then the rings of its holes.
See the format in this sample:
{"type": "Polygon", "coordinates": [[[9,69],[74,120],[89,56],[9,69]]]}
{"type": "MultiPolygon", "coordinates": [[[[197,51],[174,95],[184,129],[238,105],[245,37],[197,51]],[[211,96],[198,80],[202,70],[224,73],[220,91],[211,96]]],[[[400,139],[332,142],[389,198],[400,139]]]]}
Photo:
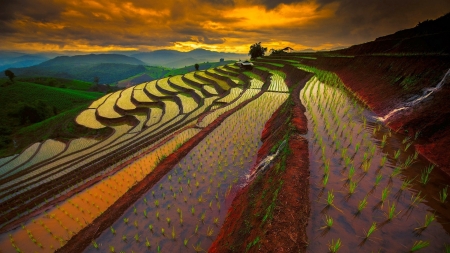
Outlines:
{"type": "MultiPolygon", "coordinates": [[[[335,72],[379,116],[436,86],[450,68],[450,56],[318,57],[302,63],[335,72]]],[[[450,84],[411,110],[387,121],[409,136],[419,132],[417,150],[450,175],[450,84]]]]}

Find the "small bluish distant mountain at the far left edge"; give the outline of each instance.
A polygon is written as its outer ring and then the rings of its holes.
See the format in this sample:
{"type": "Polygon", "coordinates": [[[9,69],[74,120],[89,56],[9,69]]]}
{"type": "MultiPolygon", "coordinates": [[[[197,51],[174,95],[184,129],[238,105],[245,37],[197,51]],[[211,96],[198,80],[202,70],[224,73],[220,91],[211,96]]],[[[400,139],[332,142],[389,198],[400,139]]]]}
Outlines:
{"type": "Polygon", "coordinates": [[[18,52],[0,52],[0,71],[9,68],[22,68],[37,65],[48,58],[42,55],[23,54],[18,52]]]}

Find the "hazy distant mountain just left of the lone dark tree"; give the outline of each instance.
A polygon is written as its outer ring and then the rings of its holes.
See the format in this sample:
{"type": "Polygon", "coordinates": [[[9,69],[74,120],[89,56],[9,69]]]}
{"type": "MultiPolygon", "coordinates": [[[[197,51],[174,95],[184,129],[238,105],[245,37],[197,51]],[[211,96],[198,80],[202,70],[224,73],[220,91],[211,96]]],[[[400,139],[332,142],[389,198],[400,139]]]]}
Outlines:
{"type": "Polygon", "coordinates": [[[217,62],[221,58],[225,60],[247,59],[245,54],[221,53],[205,49],[195,49],[189,52],[176,50],[156,50],[152,52],[133,54],[133,57],[152,66],[178,68],[201,62],[217,62]],[[189,60],[188,60],[189,59],[189,60]]]}

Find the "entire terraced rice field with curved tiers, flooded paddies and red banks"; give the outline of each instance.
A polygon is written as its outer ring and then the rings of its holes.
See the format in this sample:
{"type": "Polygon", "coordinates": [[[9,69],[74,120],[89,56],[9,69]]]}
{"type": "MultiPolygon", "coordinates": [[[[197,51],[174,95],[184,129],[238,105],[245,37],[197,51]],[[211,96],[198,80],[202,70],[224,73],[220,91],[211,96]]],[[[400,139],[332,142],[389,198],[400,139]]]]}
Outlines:
{"type": "Polygon", "coordinates": [[[0,252],[448,252],[448,178],[418,136],[303,59],[107,94],[74,119],[107,138],[0,159],[0,252]]]}

